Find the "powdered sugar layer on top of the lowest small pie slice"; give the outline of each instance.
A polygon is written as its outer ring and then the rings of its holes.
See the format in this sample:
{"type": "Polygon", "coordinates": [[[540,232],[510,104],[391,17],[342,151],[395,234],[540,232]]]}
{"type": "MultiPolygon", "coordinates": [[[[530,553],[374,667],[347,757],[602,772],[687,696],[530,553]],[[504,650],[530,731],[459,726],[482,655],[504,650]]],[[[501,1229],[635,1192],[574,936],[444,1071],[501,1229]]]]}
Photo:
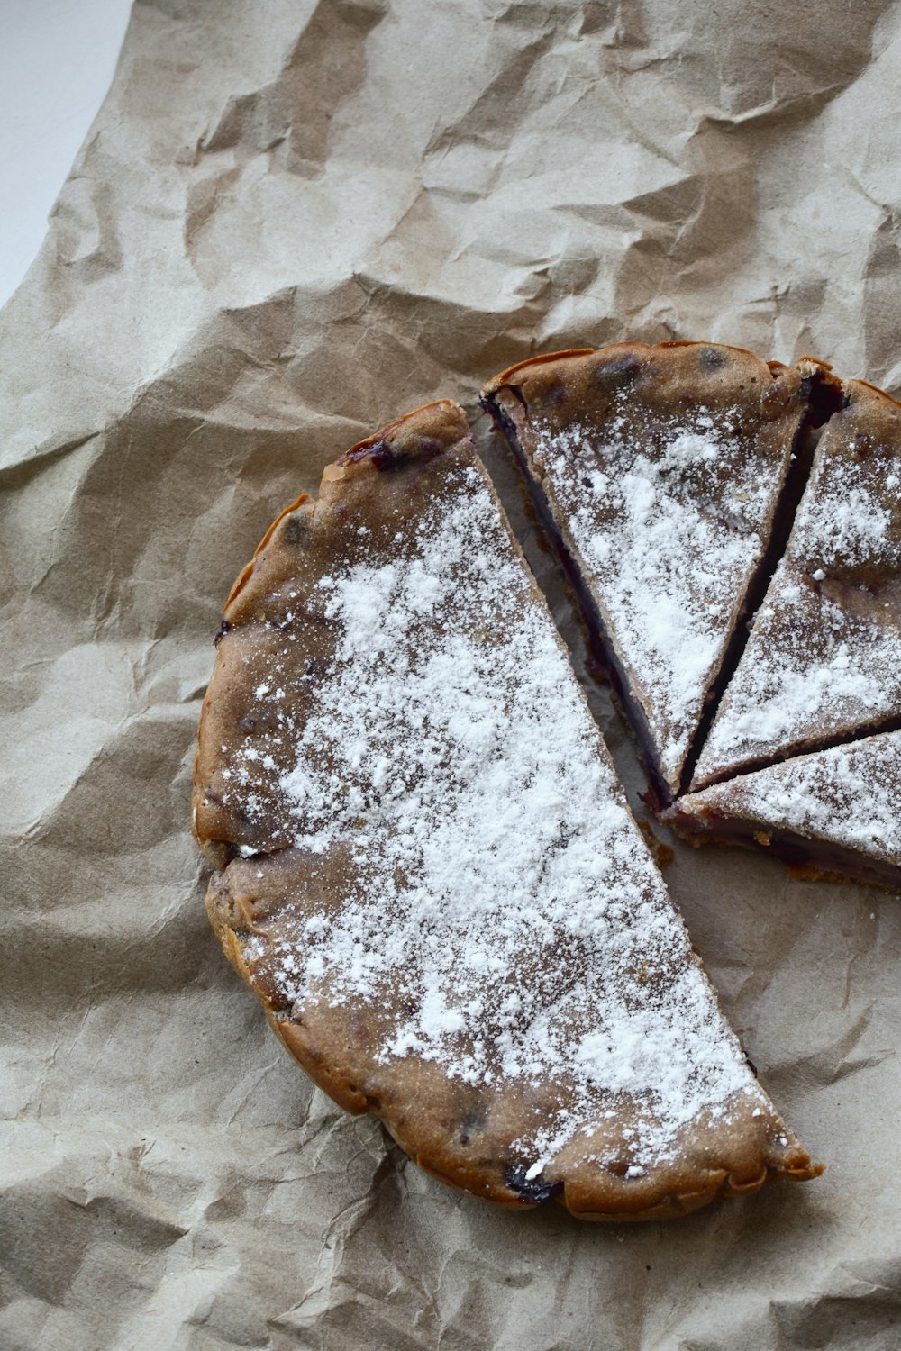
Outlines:
{"type": "Polygon", "coordinates": [[[867,736],[682,798],[901,865],[901,732],[867,736]]]}

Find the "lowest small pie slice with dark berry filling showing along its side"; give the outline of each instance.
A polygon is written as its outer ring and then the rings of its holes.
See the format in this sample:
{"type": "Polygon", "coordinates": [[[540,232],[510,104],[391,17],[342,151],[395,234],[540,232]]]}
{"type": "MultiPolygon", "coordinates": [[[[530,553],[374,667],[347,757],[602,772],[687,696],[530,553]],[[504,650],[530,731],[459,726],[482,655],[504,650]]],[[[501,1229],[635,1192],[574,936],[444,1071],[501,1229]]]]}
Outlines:
{"type": "Polygon", "coordinates": [[[901,732],[740,774],[665,815],[692,844],[754,844],[806,877],[901,889],[901,732]]]}

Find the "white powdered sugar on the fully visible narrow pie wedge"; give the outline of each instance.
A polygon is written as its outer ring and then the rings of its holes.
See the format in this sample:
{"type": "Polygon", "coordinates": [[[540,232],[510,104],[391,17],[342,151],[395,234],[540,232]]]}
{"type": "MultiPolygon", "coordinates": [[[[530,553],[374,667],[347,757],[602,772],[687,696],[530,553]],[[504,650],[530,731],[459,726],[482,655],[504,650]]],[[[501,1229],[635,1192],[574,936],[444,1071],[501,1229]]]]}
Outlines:
{"type": "Polygon", "coordinates": [[[621,415],[601,430],[535,428],[543,488],[674,789],[788,461],[786,447],[782,465],[762,463],[738,419],[701,407],[669,420],[655,413],[640,435],[621,415]]]}

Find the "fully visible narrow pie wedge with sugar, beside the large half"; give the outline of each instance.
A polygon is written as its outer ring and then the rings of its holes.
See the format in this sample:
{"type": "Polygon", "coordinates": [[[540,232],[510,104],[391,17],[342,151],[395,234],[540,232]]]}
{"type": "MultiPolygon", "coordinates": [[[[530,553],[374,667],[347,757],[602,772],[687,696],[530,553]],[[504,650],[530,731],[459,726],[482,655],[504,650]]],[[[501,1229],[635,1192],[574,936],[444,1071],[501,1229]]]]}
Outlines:
{"type": "Polygon", "coordinates": [[[658,805],[688,781],[775,563],[827,369],[712,343],[619,343],[521,362],[482,392],[575,584],[658,805]]]}

